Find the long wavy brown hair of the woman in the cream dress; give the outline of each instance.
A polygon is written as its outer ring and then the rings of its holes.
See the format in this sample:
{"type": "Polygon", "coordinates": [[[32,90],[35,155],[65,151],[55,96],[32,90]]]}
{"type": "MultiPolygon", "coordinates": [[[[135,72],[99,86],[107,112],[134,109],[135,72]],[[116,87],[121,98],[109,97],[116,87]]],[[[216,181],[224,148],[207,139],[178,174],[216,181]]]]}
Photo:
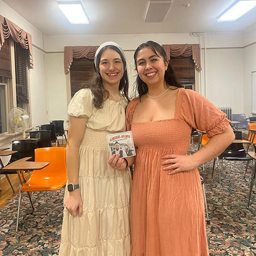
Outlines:
{"type": "Polygon", "coordinates": [[[123,77],[119,83],[119,92],[123,93],[128,102],[130,101],[128,97],[129,81],[127,75],[125,56],[123,56],[122,52],[117,47],[112,45],[105,46],[97,54],[96,64],[94,64],[94,77],[92,81],[90,83],[81,85],[82,88],[90,88],[93,94],[93,104],[97,109],[103,108],[104,101],[109,97],[109,92],[103,86],[103,80],[100,74],[100,70],[98,68],[100,64],[101,55],[106,49],[113,49],[121,56],[123,62],[123,77]]]}

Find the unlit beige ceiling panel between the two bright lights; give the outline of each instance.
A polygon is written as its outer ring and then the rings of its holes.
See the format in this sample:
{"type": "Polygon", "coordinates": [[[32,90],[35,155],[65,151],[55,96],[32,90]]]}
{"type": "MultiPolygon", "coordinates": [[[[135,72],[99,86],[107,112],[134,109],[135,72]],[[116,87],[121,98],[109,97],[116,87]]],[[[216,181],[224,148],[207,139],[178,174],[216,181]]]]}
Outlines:
{"type": "Polygon", "coordinates": [[[172,1],[149,1],[145,22],[162,22],[172,1]]]}

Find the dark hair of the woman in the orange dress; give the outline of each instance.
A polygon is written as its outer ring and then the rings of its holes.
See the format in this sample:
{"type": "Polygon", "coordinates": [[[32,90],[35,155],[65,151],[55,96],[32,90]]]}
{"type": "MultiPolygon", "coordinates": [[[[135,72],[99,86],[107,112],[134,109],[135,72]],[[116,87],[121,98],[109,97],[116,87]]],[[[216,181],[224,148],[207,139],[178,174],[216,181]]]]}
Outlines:
{"type": "MultiPolygon", "coordinates": [[[[143,48],[151,48],[152,51],[157,55],[158,57],[163,57],[164,62],[167,61],[167,55],[164,51],[164,48],[160,46],[160,44],[154,42],[154,41],[147,41],[146,43],[140,44],[137,49],[134,52],[134,63],[135,63],[135,70],[137,71],[137,55],[138,52],[141,51],[143,48]],[[160,55],[160,56],[159,56],[160,55]]],[[[164,73],[164,80],[168,85],[176,86],[177,88],[183,87],[183,85],[180,83],[180,81],[177,79],[177,76],[174,72],[174,69],[172,68],[171,64],[168,62],[168,67],[166,72],[164,73]]],[[[137,79],[135,81],[137,85],[137,90],[139,93],[139,97],[141,97],[143,94],[146,94],[148,92],[147,84],[146,82],[143,82],[139,75],[137,75],[137,79]]]]}

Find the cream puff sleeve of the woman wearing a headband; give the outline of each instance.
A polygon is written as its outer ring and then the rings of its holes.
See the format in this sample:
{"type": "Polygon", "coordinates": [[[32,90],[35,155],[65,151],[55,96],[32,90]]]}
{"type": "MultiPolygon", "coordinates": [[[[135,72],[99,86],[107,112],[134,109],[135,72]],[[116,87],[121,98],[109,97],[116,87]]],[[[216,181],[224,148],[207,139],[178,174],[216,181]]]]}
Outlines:
{"type": "Polygon", "coordinates": [[[68,114],[72,117],[89,118],[92,115],[93,106],[93,95],[90,89],[81,89],[69,102],[68,114]]]}

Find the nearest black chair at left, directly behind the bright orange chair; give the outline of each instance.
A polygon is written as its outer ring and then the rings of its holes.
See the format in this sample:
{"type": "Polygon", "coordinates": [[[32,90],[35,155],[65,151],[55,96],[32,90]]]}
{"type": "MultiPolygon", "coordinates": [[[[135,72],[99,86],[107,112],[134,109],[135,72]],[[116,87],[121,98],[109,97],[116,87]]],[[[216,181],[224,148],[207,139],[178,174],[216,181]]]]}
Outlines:
{"type": "MultiPolygon", "coordinates": [[[[11,155],[11,158],[9,160],[9,163],[6,164],[6,166],[10,163],[15,162],[16,160],[26,158],[28,156],[31,156],[31,161],[35,160],[35,148],[37,147],[37,141],[34,139],[18,139],[16,141],[13,141],[11,144],[11,150],[18,151],[15,154],[11,155]]],[[[10,175],[10,174],[17,174],[16,171],[7,171],[0,169],[0,175],[10,175]]],[[[11,185],[11,189],[13,189],[13,185],[11,184],[10,179],[7,179],[11,185]]]]}

